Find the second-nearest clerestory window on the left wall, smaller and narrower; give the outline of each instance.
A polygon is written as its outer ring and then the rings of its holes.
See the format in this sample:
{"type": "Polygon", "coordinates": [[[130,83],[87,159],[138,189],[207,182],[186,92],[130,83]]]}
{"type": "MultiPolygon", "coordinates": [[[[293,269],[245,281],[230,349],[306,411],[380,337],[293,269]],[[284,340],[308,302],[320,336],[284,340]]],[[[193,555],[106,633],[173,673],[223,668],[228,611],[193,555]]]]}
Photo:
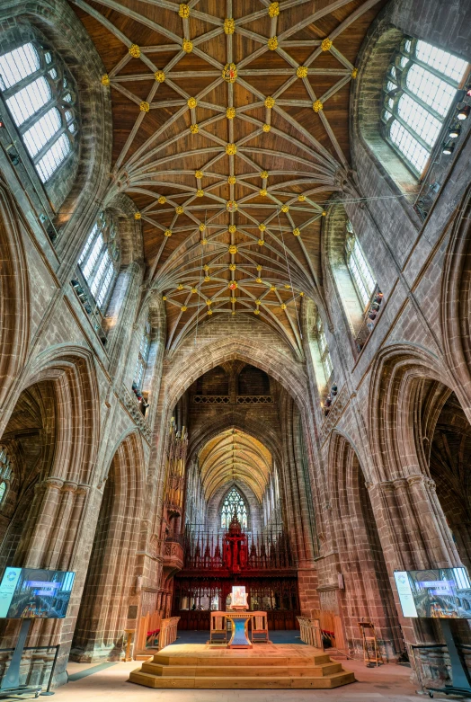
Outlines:
{"type": "Polygon", "coordinates": [[[78,259],[82,275],[102,312],[106,309],[118,275],[119,259],[116,226],[111,217],[102,212],[78,259]]]}

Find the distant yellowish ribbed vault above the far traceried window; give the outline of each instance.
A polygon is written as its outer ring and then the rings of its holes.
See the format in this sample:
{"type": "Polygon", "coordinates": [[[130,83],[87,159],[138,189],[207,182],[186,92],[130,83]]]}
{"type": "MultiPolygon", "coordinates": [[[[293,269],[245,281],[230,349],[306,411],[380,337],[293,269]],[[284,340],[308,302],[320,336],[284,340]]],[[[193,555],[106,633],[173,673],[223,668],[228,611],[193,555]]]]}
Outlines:
{"type": "Polygon", "coordinates": [[[244,431],[230,429],[201,449],[200,472],[207,502],[224,484],[245,484],[262,502],[272,469],[271,453],[244,431]]]}

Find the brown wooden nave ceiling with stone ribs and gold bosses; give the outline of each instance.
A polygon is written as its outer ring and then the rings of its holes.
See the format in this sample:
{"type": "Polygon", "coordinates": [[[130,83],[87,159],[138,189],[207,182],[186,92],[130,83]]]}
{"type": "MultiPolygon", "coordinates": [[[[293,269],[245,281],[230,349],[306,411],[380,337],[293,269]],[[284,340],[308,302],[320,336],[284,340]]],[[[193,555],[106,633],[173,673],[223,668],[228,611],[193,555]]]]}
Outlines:
{"type": "Polygon", "coordinates": [[[143,226],[168,347],[221,313],[300,346],[321,223],[349,182],[349,95],[385,0],[70,0],[111,90],[107,201],[143,226]]]}

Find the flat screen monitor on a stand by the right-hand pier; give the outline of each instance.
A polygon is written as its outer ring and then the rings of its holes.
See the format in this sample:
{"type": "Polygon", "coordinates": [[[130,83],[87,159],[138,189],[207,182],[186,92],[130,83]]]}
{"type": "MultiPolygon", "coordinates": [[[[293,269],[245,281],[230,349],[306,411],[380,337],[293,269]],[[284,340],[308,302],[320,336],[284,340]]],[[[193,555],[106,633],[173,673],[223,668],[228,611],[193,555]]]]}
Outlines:
{"type": "Polygon", "coordinates": [[[466,568],[395,571],[404,617],[471,619],[471,582],[466,568]]]}

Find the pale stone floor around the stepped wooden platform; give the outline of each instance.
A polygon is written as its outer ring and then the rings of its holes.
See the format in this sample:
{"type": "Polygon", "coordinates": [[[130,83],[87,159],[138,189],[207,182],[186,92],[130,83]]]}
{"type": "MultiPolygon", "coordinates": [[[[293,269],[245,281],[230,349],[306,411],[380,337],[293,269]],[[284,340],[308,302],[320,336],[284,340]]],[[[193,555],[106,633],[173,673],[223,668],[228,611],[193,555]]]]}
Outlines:
{"type": "MultiPolygon", "coordinates": [[[[298,632],[275,632],[280,641],[299,643],[298,632]]],[[[176,643],[200,643],[206,632],[182,633],[176,643]]],[[[184,690],[148,689],[128,682],[129,671],[138,663],[69,663],[69,682],[56,690],[57,702],[409,702],[419,700],[416,685],[410,681],[411,669],[395,663],[366,668],[361,661],[342,660],[345,669],[354,671],[358,682],[333,690],[184,690]]],[[[428,697],[427,697],[428,699],[428,697]]],[[[436,696],[440,700],[441,696],[436,696]]],[[[446,699],[443,697],[443,699],[446,699]]]]}

